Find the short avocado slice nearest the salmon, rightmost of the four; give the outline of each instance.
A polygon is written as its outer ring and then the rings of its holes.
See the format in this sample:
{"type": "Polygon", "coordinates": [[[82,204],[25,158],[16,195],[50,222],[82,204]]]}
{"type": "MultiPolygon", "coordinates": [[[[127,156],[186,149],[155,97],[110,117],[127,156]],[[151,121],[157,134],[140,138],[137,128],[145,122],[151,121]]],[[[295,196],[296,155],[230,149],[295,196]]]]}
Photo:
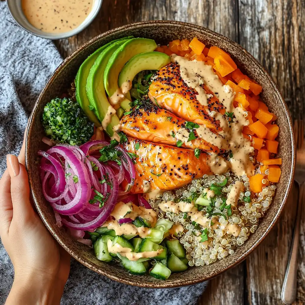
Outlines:
{"type": "MultiPolygon", "coordinates": [[[[129,83],[131,87],[134,77],[143,70],[160,70],[162,67],[170,63],[170,56],[161,52],[145,52],[132,57],[123,67],[119,75],[118,86],[129,83]]],[[[127,98],[127,95],[125,95],[127,98]]],[[[129,102],[131,99],[127,98],[129,102]]],[[[125,100],[124,100],[125,102],[125,100]]],[[[129,103],[128,102],[128,103],[129,103]]],[[[121,103],[123,105],[123,102],[121,103]]]]}

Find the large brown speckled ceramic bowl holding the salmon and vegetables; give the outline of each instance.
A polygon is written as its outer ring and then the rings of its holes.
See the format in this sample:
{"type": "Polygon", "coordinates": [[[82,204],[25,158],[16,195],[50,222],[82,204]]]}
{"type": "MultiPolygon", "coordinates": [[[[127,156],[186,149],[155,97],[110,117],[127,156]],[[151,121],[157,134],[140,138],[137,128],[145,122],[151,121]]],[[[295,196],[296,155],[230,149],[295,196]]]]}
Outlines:
{"type": "Polygon", "coordinates": [[[45,88],[41,91],[30,116],[26,138],[26,166],[29,173],[32,196],[38,213],[55,239],[72,257],[99,274],[106,275],[108,278],[118,282],[141,287],[170,288],[191,285],[213,278],[239,264],[260,244],[282,212],[292,186],[295,167],[295,145],[291,117],[278,88],[264,68],[244,48],[221,34],[204,27],[177,21],[148,21],[119,27],[91,39],[68,56],[55,70],[45,88]],[[64,228],[58,228],[52,208],[42,194],[37,170],[37,152],[40,149],[47,148],[41,142],[41,138],[44,136],[41,116],[45,104],[62,92],[66,92],[70,83],[74,80],[79,66],[87,56],[105,43],[129,35],[152,38],[163,45],[168,44],[173,39],[192,39],[197,37],[207,46],[217,45],[229,52],[239,68],[263,86],[262,98],[269,109],[278,117],[277,123],[280,127],[279,156],[283,160],[282,176],[273,202],[255,233],[242,246],[238,247],[234,254],[225,259],[208,266],[192,267],[183,273],[174,273],[166,281],[157,280],[149,275],[131,275],[116,264],[103,263],[95,258],[92,249],[74,241],[64,228]]]}

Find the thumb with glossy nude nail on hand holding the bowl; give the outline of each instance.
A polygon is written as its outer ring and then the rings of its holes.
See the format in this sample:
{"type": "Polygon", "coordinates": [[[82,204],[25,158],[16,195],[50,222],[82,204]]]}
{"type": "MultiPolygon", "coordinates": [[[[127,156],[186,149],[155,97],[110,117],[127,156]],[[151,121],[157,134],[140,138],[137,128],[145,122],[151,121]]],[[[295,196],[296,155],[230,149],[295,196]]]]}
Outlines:
{"type": "Polygon", "coordinates": [[[11,177],[13,217],[20,215],[22,218],[28,218],[34,211],[30,203],[27,171],[24,165],[19,163],[18,158],[13,155],[7,156],[7,168],[11,177]]]}

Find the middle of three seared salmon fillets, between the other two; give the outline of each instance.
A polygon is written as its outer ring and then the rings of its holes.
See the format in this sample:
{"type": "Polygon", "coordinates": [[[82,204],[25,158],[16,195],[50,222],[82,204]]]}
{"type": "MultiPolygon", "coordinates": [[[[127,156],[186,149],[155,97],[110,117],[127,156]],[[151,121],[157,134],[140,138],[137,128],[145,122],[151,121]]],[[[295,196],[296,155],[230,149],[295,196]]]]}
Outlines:
{"type": "MultiPolygon", "coordinates": [[[[198,148],[215,153],[224,152],[223,149],[199,138],[196,128],[193,129],[196,139],[187,142],[191,130],[186,129],[188,126],[186,124],[187,121],[146,101],[139,108],[135,108],[131,113],[122,117],[121,131],[127,136],[153,143],[175,146],[181,139],[182,147],[198,148]]],[[[217,135],[215,134],[215,136],[217,135]]]]}

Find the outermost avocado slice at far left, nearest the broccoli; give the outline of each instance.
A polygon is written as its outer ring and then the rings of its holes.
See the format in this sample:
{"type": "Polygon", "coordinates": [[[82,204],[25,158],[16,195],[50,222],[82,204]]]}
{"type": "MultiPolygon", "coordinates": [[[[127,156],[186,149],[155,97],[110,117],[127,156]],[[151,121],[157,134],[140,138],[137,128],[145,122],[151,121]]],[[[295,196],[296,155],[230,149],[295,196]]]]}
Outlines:
{"type": "Polygon", "coordinates": [[[98,118],[96,117],[95,113],[90,109],[89,107],[89,100],[86,93],[86,82],[87,77],[89,75],[90,69],[93,66],[95,60],[99,56],[99,54],[107,48],[111,43],[114,43],[116,41],[120,41],[122,39],[126,38],[133,38],[133,36],[130,37],[124,37],[120,39],[116,39],[113,41],[110,41],[106,45],[103,45],[102,47],[98,48],[95,52],[93,52],[90,56],[88,56],[84,62],[79,67],[76,77],[75,77],[75,97],[79,105],[81,106],[81,109],[83,109],[84,113],[88,117],[88,119],[95,123],[96,126],[101,126],[101,123],[99,122],[98,118]]]}

